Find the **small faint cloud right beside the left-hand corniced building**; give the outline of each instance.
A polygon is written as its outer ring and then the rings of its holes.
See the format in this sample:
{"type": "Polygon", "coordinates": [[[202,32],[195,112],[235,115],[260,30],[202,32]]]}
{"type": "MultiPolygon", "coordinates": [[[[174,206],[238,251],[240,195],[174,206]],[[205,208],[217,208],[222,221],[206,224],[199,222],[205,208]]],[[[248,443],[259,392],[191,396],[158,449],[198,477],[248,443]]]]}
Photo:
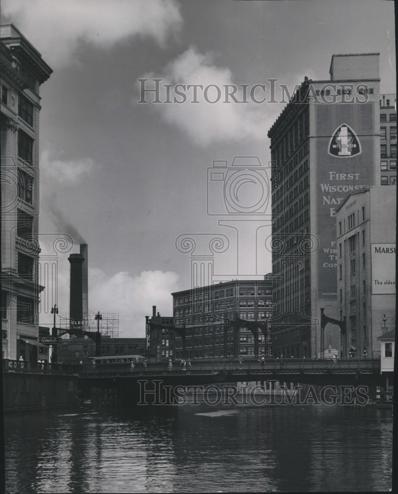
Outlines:
{"type": "Polygon", "coordinates": [[[91,158],[81,160],[51,160],[48,150],[40,155],[40,170],[44,177],[55,179],[62,185],[75,184],[95,167],[91,158]]]}

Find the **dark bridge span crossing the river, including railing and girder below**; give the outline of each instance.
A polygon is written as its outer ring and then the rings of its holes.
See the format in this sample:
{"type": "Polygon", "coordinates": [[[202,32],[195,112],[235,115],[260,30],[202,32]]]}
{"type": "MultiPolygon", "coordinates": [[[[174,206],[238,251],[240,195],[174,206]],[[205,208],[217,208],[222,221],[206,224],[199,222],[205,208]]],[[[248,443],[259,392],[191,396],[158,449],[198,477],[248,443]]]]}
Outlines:
{"type": "Polygon", "coordinates": [[[309,384],[349,384],[376,382],[380,379],[380,359],[200,359],[182,368],[165,362],[145,364],[88,364],[80,366],[80,378],[89,387],[114,386],[128,380],[161,380],[169,385],[196,385],[223,382],[279,380],[309,384]]]}

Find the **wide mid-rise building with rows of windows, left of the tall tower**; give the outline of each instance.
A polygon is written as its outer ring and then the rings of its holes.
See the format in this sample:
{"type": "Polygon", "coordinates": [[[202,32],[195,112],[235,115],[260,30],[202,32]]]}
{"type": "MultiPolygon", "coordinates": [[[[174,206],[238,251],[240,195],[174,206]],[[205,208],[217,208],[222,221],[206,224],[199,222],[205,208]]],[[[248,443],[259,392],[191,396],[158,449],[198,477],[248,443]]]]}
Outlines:
{"type": "MultiPolygon", "coordinates": [[[[172,293],[175,326],[184,328],[186,358],[272,356],[272,277],[232,280],[172,293]]],[[[174,333],[176,358],[183,338],[174,333]]]]}

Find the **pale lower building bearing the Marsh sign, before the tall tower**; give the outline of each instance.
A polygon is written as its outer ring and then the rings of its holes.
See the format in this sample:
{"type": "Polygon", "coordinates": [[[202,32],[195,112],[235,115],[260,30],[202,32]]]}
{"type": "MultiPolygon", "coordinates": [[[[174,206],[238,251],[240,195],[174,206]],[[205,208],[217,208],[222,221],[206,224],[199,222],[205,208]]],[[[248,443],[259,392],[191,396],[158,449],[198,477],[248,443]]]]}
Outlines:
{"type": "Polygon", "coordinates": [[[396,207],[396,188],[379,185],[349,193],[336,209],[339,319],[347,318],[356,357],[379,357],[377,338],[395,329],[396,207]]]}

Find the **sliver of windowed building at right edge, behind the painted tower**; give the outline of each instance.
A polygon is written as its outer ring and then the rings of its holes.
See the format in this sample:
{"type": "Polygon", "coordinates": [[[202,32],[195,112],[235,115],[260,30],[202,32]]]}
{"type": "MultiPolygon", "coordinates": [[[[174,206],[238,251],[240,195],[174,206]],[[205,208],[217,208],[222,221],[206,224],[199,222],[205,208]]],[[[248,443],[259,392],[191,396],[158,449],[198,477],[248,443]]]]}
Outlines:
{"type": "Polygon", "coordinates": [[[397,185],[396,94],[380,95],[380,185],[397,185]]]}

